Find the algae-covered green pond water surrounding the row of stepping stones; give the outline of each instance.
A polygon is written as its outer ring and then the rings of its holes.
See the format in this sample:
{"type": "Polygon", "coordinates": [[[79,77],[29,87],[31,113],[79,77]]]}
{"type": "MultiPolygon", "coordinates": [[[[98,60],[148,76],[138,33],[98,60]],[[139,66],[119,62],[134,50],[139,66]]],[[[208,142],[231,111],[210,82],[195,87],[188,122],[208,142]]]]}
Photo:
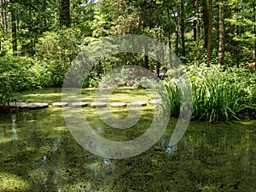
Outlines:
{"type": "MultiPolygon", "coordinates": [[[[25,92],[33,102],[59,102],[60,89],[25,92]]],[[[84,90],[92,102],[94,90],[84,90]]],[[[113,101],[147,101],[146,90],[117,90],[113,101]],[[122,95],[123,94],[123,95],[122,95]],[[125,96],[126,95],[126,96],[125,96]],[[122,96],[122,97],[121,97],[122,96]]],[[[84,116],[96,133],[129,141],[147,131],[154,107],[143,108],[137,125],[116,130],[95,108],[84,116]]],[[[127,109],[113,109],[124,118],[127,109]]],[[[114,160],[90,154],[72,137],[61,108],[26,110],[0,119],[0,191],[256,191],[256,122],[190,122],[183,138],[168,146],[177,119],[143,154],[114,160]]]]}

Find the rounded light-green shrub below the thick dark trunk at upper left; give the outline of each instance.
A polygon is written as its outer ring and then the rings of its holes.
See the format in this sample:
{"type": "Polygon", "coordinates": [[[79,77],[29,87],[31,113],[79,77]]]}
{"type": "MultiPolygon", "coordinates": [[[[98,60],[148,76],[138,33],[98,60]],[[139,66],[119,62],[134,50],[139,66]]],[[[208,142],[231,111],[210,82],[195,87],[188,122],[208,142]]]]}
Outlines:
{"type": "Polygon", "coordinates": [[[45,32],[38,39],[36,57],[51,73],[51,84],[62,84],[68,67],[79,53],[79,32],[72,29],[45,32]]]}

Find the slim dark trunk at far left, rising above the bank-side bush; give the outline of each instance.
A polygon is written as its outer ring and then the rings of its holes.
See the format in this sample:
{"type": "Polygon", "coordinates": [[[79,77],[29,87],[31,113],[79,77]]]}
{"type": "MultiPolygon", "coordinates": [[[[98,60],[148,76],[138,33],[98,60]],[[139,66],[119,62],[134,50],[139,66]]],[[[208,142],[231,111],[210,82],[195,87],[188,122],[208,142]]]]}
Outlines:
{"type": "Polygon", "coordinates": [[[17,23],[16,23],[16,9],[15,0],[11,0],[11,21],[12,21],[12,44],[13,44],[13,55],[17,55],[17,23]]]}

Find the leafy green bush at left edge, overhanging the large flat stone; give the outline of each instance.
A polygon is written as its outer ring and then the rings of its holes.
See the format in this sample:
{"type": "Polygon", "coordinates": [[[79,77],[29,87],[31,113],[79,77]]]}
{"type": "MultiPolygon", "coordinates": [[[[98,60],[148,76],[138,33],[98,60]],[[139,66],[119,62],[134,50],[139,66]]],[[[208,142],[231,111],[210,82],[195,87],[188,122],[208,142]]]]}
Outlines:
{"type": "MultiPolygon", "coordinates": [[[[52,85],[51,72],[27,57],[0,57],[0,108],[17,99],[20,90],[33,90],[52,85]]],[[[2,110],[3,111],[3,110],[2,110]]]]}

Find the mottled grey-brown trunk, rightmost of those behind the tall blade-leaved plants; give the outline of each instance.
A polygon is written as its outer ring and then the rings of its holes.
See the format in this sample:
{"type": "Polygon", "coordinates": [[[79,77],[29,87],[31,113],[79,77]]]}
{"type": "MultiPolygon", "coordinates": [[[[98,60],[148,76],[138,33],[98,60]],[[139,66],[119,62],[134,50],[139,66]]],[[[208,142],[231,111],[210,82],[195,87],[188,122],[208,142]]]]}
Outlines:
{"type": "Polygon", "coordinates": [[[224,65],[224,10],[223,0],[219,0],[218,5],[218,63],[224,65]]]}

